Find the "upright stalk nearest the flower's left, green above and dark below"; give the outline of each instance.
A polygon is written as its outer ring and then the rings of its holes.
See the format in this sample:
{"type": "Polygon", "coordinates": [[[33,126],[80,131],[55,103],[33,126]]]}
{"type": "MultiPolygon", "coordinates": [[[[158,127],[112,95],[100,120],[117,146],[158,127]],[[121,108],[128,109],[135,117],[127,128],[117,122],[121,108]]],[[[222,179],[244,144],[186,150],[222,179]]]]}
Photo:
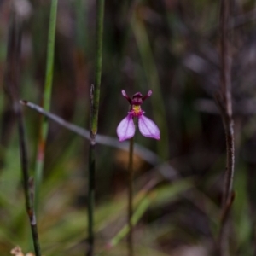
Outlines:
{"type": "Polygon", "coordinates": [[[90,90],[90,146],[89,146],[89,176],[88,176],[88,256],[94,255],[94,201],[96,172],[96,133],[98,129],[98,113],[102,80],[102,44],[104,0],[96,2],[96,78],[95,87],[90,90]]]}

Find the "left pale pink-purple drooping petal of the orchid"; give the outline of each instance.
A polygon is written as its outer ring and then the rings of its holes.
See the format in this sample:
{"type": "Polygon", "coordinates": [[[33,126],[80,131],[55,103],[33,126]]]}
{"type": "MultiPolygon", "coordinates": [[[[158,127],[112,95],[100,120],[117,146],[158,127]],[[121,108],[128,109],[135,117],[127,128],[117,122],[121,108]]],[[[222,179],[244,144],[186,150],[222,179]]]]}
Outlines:
{"type": "Polygon", "coordinates": [[[122,119],[117,127],[117,135],[119,137],[119,141],[123,142],[134,136],[135,133],[135,125],[132,119],[132,114],[129,113],[125,119],[122,119]]]}

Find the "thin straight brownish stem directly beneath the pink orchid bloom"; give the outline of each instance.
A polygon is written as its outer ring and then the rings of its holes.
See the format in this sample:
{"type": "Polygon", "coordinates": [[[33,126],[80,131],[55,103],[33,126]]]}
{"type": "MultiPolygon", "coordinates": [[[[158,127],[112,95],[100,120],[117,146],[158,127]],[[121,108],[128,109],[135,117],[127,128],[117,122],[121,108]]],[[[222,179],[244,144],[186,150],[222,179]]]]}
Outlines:
{"type": "Polygon", "coordinates": [[[130,148],[129,148],[129,166],[128,166],[128,225],[129,233],[127,237],[128,242],[128,255],[133,256],[133,224],[132,224],[132,214],[133,214],[133,147],[134,141],[133,138],[130,139],[130,148]]]}

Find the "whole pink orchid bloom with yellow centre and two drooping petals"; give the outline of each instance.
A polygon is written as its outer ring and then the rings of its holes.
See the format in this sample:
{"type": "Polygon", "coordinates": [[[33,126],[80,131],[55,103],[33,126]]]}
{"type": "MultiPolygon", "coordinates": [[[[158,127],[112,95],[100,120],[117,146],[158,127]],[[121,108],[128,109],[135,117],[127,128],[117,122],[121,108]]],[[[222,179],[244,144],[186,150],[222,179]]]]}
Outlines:
{"type": "Polygon", "coordinates": [[[160,140],[160,131],[157,125],[151,119],[148,119],[144,116],[144,111],[141,108],[143,102],[152,95],[152,90],[148,90],[148,93],[143,96],[140,92],[137,92],[135,95],[130,98],[127,96],[125,90],[122,90],[122,95],[130,103],[131,110],[128,112],[128,115],[123,119],[117,127],[117,135],[119,141],[123,142],[127,139],[130,139],[135,134],[135,125],[134,118],[138,119],[138,128],[141,131],[144,137],[152,137],[156,140],[160,140]]]}

